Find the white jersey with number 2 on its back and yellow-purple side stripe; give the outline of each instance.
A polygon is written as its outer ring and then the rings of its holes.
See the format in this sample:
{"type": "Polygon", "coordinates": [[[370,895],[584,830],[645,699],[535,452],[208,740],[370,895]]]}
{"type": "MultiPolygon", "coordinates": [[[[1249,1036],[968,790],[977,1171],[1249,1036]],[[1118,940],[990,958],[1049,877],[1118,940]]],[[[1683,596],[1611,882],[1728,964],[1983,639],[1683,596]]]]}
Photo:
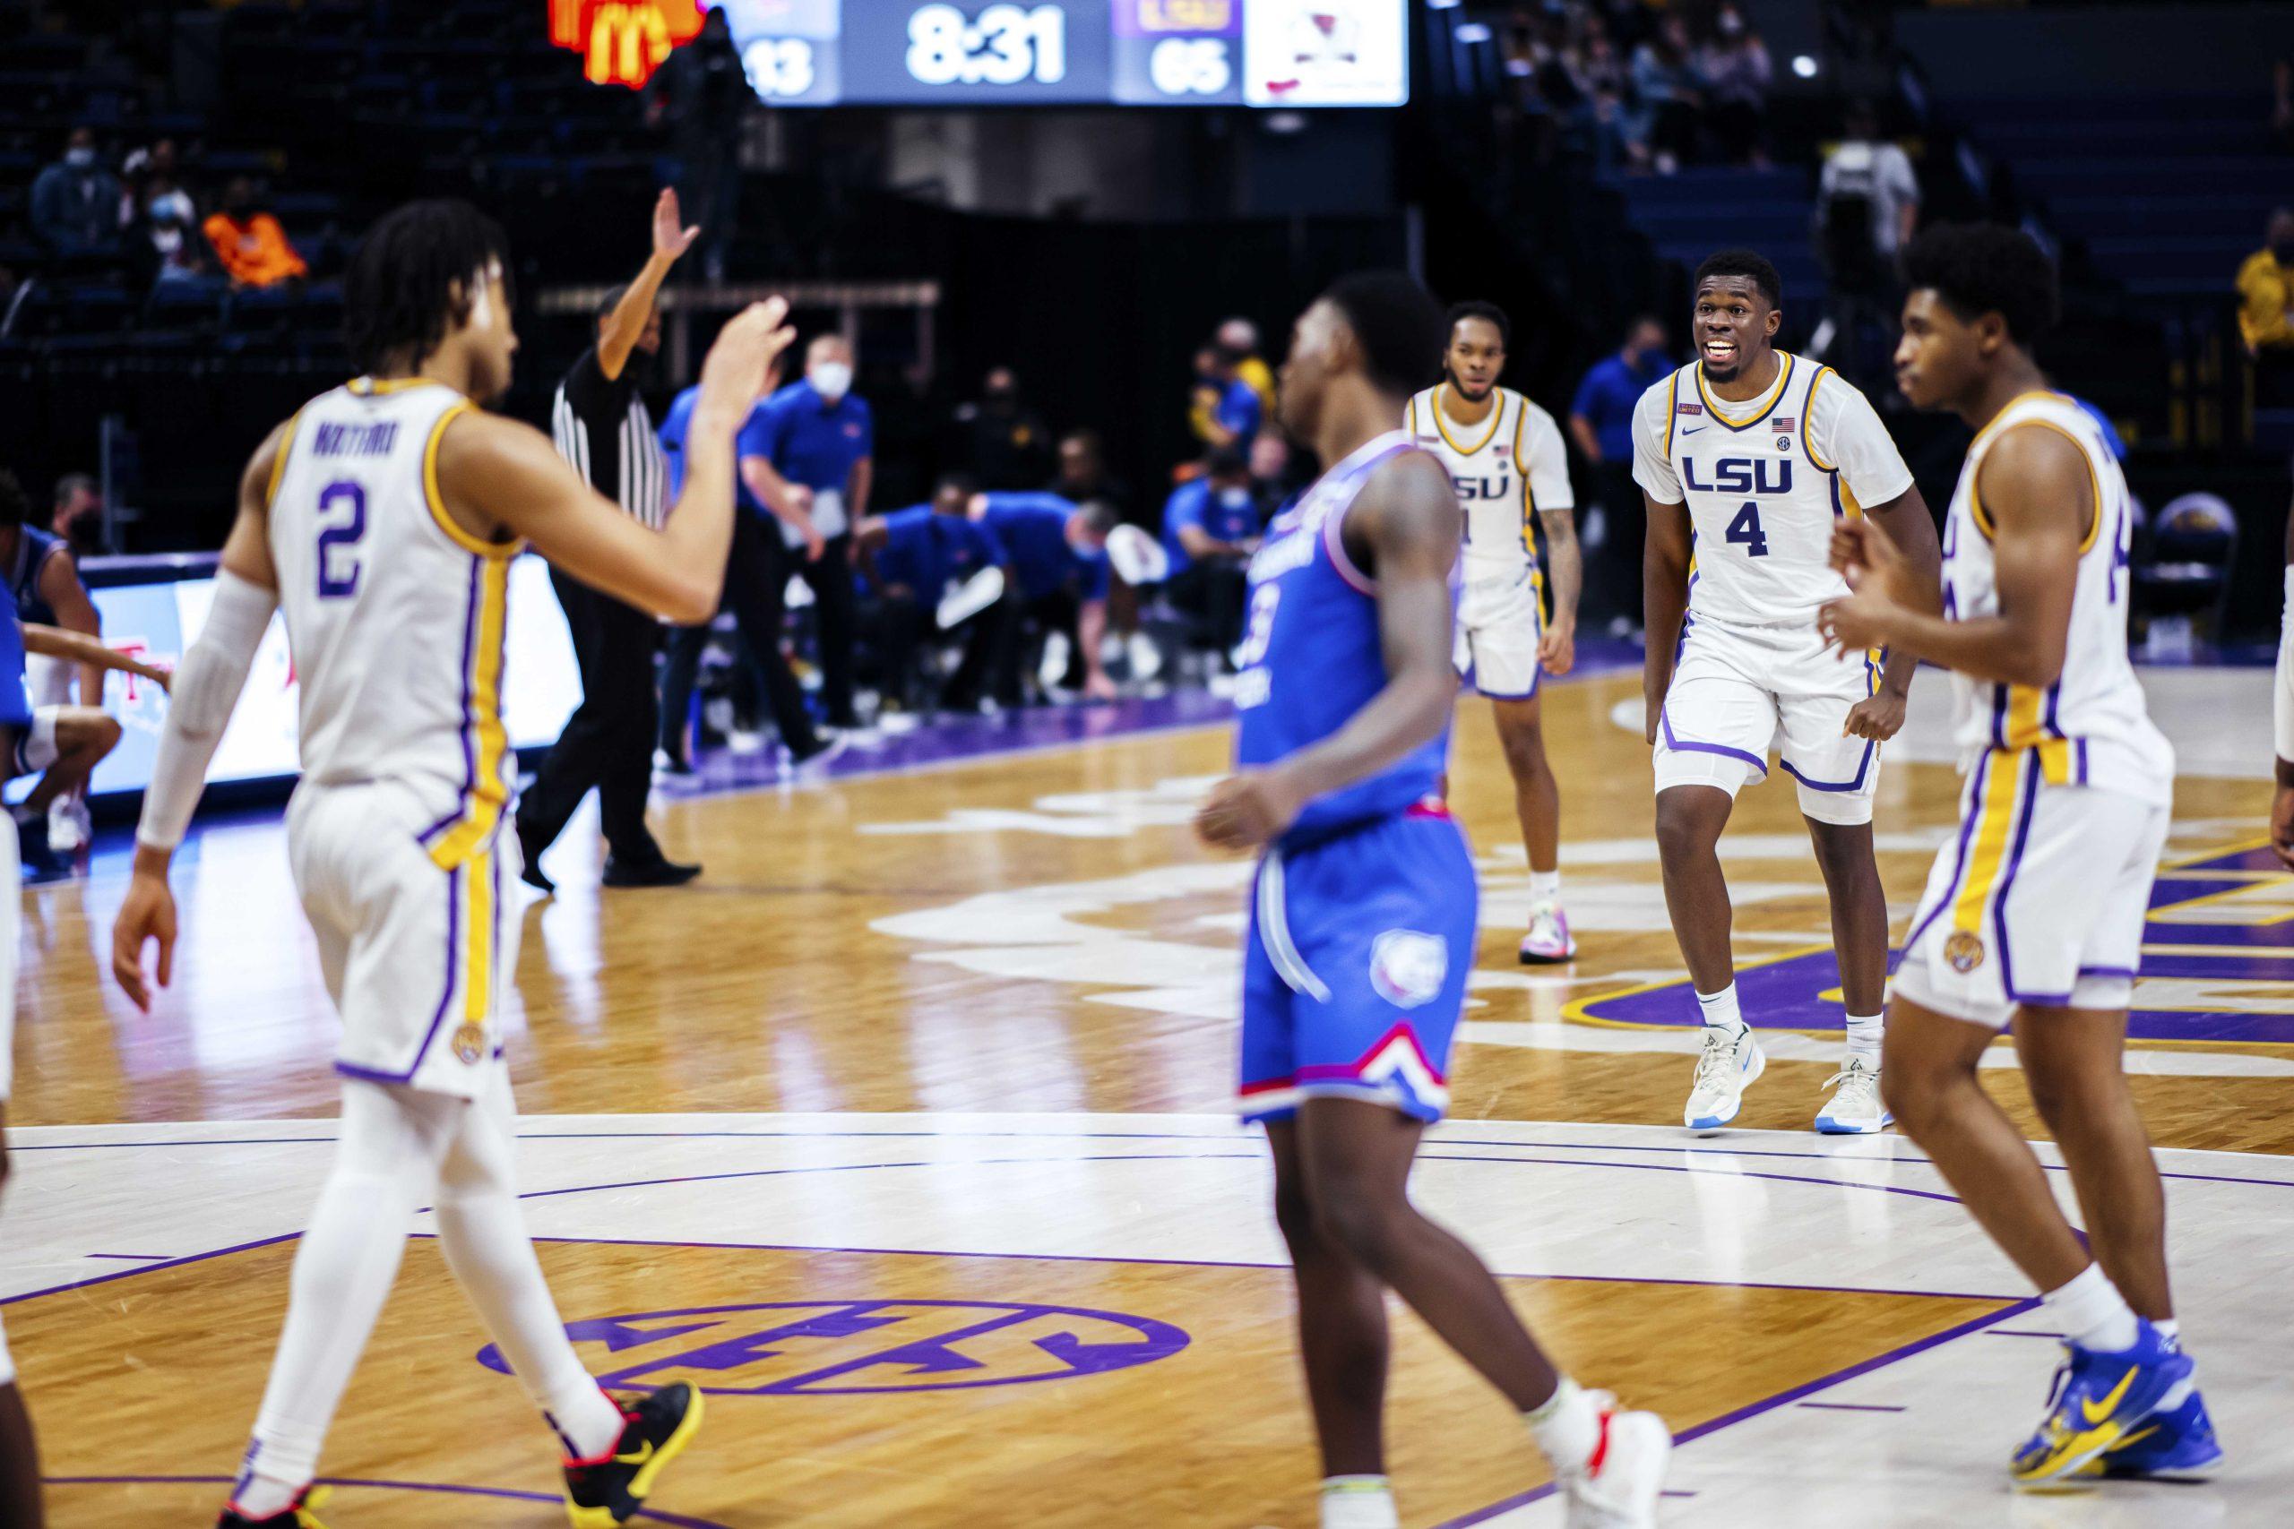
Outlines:
{"type": "Polygon", "coordinates": [[[388,779],[434,814],[457,867],[509,805],[502,644],[516,546],[470,536],[438,500],[452,387],[358,378],[294,417],[271,472],[271,562],[301,685],[303,782],[388,779]]]}

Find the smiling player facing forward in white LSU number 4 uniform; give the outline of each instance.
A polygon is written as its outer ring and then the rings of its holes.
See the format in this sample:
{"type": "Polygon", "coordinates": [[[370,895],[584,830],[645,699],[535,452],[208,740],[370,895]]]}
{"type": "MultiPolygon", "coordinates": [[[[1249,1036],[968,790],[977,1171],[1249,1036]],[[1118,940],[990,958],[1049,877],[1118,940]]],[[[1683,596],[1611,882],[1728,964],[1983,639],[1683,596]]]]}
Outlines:
{"type": "Polygon", "coordinates": [[[1723,250],[1695,275],[1698,360],[1633,413],[1633,479],[1649,511],[1643,564],[1647,740],[1656,750],[1656,844],[1665,908],[1704,1016],[1682,1121],[1720,1130],[1766,1059],[1737,1002],[1720,830],[1773,747],[1833,905],[1847,1059],[1824,1084],[1817,1130],[1865,1135],[1881,1105],[1888,899],[1872,860],[1879,745],[1904,724],[1918,660],[1842,667],[1817,607],[1847,594],[1831,569],[1837,520],[1872,516],[1927,578],[1936,527],[1911,470],[1860,392],[1831,367],[1776,348],[1776,266],[1723,250]]]}

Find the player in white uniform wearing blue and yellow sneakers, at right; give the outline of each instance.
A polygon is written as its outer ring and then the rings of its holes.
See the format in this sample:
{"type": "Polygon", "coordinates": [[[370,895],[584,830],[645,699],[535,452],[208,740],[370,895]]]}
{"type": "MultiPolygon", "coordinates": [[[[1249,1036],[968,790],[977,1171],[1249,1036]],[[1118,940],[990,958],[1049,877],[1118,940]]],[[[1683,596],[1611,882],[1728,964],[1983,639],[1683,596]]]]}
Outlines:
{"type": "MultiPolygon", "coordinates": [[[[2090,415],[2030,358],[2055,273],[2016,229],[1929,229],[1904,254],[1904,397],[1975,429],[1943,534],[1943,598],[1874,525],[1842,525],[1842,653],[1952,669],[1968,786],[1888,1006],[1888,1103],[2069,1350],[2016,1485],[2191,1476],[2223,1458],[2182,1352],[2166,1194],[2127,1089],[2127,1006],[2175,805],[2175,750],[2127,662],[2133,502],[2090,415]],[[2085,1215],[1977,1082],[2014,1029],[2085,1215]]],[[[1893,527],[1890,527],[1893,530],[1893,527]]]]}

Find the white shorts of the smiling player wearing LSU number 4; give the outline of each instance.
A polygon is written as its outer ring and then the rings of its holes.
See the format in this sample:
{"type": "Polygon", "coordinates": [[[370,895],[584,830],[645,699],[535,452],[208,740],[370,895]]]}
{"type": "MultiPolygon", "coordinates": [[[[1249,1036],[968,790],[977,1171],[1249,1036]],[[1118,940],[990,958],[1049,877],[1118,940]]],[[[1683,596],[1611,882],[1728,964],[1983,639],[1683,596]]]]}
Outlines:
{"type": "Polygon", "coordinates": [[[1842,660],[1815,626],[1727,626],[1693,617],[1656,722],[1656,789],[1737,795],[1776,750],[1817,823],[1870,823],[1879,745],[1849,738],[1856,701],[1879,688],[1879,660],[1842,660]]]}

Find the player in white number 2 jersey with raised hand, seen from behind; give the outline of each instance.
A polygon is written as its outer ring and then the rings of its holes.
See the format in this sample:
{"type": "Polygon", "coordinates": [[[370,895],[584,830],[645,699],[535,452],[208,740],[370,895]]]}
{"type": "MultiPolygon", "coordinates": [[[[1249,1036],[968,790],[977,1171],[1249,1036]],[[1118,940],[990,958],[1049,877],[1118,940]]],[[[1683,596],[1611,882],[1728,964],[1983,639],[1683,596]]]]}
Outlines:
{"type": "Polygon", "coordinates": [[[518,880],[502,734],[509,562],[551,564],[670,621],[716,612],[732,541],[732,438],[789,344],[773,300],[725,326],[702,364],[686,486],[654,532],[592,491],[548,436],[484,413],[516,335],[500,227],[413,202],[365,238],[344,289],[365,371],[280,424],[248,463],[216,603],[177,679],[135,832],[112,972],[149,1006],[174,954],[167,862],[271,612],[301,679],[303,784],[287,853],[342,1011],[342,1130],[294,1261],[287,1327],[220,1524],[289,1529],[342,1389],[434,1206],[463,1293],[564,1446],[576,1529],[619,1524],[700,1424],[663,1387],[629,1408],[583,1371],[525,1236],[502,1018],[518,880]]]}

